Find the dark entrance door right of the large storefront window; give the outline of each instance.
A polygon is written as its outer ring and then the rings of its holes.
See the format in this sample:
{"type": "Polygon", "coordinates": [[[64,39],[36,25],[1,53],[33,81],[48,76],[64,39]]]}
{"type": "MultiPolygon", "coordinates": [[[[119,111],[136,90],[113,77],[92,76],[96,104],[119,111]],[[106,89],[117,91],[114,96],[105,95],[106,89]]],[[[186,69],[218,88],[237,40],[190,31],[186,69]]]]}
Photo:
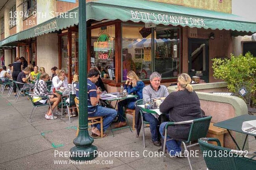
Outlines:
{"type": "Polygon", "coordinates": [[[209,52],[208,40],[189,38],[188,73],[192,76],[200,76],[200,79],[209,82],[209,52]]]}

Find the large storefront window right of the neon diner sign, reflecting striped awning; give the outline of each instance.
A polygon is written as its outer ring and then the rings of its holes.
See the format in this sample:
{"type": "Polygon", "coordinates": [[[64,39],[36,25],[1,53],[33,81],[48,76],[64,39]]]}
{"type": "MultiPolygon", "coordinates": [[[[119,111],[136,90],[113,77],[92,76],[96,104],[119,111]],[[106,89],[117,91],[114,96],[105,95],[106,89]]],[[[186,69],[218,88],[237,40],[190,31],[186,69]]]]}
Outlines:
{"type": "Polygon", "coordinates": [[[179,28],[165,26],[153,29],[123,24],[122,80],[126,80],[131,70],[140,79],[149,79],[153,71],[158,71],[162,78],[177,77],[180,73],[179,36],[179,28]]]}

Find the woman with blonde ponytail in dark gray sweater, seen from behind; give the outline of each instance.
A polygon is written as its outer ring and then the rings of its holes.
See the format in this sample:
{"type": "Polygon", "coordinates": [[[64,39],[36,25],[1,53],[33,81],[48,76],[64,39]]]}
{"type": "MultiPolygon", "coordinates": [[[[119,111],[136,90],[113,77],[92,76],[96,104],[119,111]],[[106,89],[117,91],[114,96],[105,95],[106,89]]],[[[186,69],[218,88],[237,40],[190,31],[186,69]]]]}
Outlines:
{"type": "MultiPolygon", "coordinates": [[[[197,93],[193,91],[190,82],[191,78],[188,74],[182,73],[179,75],[177,91],[170,93],[160,105],[160,112],[169,113],[171,122],[190,121],[202,117],[199,98],[197,93]]],[[[163,122],[160,125],[162,140],[164,138],[165,124],[167,122],[163,122]]],[[[168,127],[167,140],[172,139],[166,142],[168,154],[173,156],[176,152],[180,154],[181,141],[187,140],[190,126],[191,124],[178,124],[168,127]]]]}

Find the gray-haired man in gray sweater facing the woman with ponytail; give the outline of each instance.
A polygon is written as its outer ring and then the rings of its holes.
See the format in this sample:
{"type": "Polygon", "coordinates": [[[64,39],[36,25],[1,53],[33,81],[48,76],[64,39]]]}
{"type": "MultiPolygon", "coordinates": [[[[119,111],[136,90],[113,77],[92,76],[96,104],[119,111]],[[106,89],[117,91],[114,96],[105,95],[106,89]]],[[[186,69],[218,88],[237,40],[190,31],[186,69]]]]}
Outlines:
{"type": "MultiPolygon", "coordinates": [[[[167,97],[169,92],[166,86],[160,85],[161,75],[158,72],[154,72],[149,77],[150,85],[143,88],[143,102],[150,101],[150,94],[152,99],[155,97],[167,97]]],[[[161,143],[158,138],[158,119],[154,117],[151,113],[143,113],[143,119],[147,122],[150,122],[150,132],[153,144],[155,146],[161,146],[161,143]]]]}

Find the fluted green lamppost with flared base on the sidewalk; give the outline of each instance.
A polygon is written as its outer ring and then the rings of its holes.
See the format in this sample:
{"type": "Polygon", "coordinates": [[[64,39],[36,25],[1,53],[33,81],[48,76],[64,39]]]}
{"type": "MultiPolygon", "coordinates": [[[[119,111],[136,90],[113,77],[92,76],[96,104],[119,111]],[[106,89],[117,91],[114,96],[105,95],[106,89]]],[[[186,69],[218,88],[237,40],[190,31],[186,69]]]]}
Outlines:
{"type": "Polygon", "coordinates": [[[86,1],[79,0],[79,133],[70,149],[72,160],[93,160],[98,156],[97,147],[92,145],[93,138],[88,133],[87,113],[87,29],[86,1]],[[96,151],[96,152],[95,152],[96,151]]]}

